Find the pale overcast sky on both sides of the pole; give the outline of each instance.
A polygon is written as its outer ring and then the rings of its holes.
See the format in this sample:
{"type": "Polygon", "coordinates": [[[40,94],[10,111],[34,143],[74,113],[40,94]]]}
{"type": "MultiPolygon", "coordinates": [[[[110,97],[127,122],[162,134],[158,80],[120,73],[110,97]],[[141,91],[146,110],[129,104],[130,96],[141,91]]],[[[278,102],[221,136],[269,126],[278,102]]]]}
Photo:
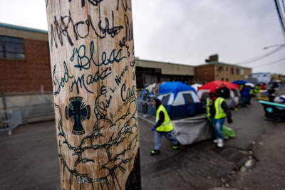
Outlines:
{"type": "MultiPolygon", "coordinates": [[[[265,46],[285,43],[274,0],[132,2],[135,56],[141,59],[199,65],[218,53],[224,63],[243,63],[274,51],[265,46]]],[[[47,30],[44,0],[2,0],[0,22],[47,30]]],[[[285,60],[276,62],[282,58],[285,48],[243,66],[285,74],[285,60]]]]}

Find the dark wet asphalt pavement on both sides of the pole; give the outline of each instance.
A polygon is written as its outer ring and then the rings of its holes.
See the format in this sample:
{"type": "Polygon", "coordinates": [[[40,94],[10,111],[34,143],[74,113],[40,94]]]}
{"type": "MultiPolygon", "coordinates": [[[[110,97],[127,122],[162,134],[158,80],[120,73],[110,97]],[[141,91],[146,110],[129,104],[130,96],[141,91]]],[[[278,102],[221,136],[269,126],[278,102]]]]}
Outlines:
{"type": "MultiPolygon", "coordinates": [[[[162,138],[161,154],[155,157],[150,156],[152,125],[139,119],[142,189],[285,189],[285,123],[264,120],[256,100],[232,114],[234,123],[226,125],[237,137],[224,148],[209,139],[173,151],[162,138]],[[251,157],[255,166],[243,169],[251,157]]],[[[59,189],[54,122],[23,125],[11,136],[1,132],[0,149],[1,190],[59,189]]]]}

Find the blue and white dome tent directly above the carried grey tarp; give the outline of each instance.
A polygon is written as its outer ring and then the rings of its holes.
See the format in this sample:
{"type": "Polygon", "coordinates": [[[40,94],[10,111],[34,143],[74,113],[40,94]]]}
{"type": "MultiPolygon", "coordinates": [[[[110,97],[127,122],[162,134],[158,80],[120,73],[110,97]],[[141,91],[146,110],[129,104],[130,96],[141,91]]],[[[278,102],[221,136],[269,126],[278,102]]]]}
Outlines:
{"type": "Polygon", "coordinates": [[[204,112],[194,88],[181,82],[165,82],[160,85],[157,97],[165,106],[171,119],[204,112]]]}

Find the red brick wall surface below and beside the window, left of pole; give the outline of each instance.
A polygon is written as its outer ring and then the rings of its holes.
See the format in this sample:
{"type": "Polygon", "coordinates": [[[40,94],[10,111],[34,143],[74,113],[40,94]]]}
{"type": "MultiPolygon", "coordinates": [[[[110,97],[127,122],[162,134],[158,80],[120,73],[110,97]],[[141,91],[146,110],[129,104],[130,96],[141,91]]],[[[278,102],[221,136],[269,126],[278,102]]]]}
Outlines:
{"type": "Polygon", "coordinates": [[[0,93],[52,91],[48,42],[24,39],[24,60],[0,58],[0,93]]]}

